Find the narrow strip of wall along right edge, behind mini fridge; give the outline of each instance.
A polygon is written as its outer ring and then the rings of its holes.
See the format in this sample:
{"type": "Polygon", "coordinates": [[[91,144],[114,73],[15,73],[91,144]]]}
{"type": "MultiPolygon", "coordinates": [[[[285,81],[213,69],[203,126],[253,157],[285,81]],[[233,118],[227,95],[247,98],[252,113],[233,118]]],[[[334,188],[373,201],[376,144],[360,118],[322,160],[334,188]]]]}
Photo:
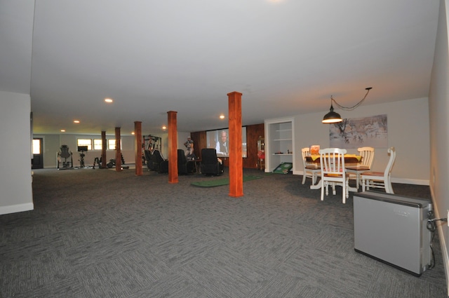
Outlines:
{"type": "MultiPolygon", "coordinates": [[[[429,92],[430,114],[430,189],[434,200],[436,218],[448,216],[449,210],[449,0],[440,1],[440,15],[434,65],[429,92]]],[[[449,283],[449,234],[447,223],[438,225],[445,263],[446,281],[449,283]]],[[[449,291],[449,284],[448,284],[449,291]]]]}

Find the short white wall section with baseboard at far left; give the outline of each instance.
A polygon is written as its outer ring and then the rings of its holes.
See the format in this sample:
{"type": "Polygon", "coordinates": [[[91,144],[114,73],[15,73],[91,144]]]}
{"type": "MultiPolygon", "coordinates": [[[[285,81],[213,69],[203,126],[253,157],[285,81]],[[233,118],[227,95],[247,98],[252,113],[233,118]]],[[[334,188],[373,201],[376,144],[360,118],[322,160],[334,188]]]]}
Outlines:
{"type": "Polygon", "coordinates": [[[31,100],[0,91],[0,214],[33,210],[31,100]]]}

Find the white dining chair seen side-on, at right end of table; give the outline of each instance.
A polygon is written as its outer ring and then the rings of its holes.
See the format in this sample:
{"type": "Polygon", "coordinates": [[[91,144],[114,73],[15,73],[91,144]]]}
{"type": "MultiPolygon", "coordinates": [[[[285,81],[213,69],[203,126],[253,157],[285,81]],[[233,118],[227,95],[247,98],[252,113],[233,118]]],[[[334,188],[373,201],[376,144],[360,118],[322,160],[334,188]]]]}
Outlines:
{"type": "Polygon", "coordinates": [[[388,194],[394,194],[393,187],[391,187],[391,169],[396,159],[396,149],[391,147],[387,150],[390,155],[387,167],[384,172],[362,172],[362,191],[370,190],[370,188],[385,189],[388,194]]]}

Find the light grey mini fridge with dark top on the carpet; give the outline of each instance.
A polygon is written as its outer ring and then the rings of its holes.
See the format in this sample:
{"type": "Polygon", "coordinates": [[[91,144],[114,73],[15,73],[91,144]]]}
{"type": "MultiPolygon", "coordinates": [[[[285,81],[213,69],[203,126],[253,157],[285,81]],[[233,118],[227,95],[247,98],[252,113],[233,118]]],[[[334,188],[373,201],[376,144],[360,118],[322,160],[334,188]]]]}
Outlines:
{"type": "Polygon", "coordinates": [[[354,250],[421,276],[431,264],[431,201],[364,191],[354,194],[354,250]]]}

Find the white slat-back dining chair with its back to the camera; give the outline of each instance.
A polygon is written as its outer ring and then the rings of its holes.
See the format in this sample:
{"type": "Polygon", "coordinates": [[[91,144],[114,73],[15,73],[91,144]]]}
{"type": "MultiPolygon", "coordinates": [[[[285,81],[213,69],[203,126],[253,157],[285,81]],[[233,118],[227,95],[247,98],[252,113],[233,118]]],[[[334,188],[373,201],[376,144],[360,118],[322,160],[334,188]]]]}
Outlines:
{"type": "Polygon", "coordinates": [[[333,195],[336,194],[335,186],[342,187],[342,202],[346,203],[349,197],[349,177],[344,168],[344,154],[346,149],[326,148],[320,150],[321,166],[321,201],[324,200],[324,191],[326,196],[329,194],[329,185],[332,186],[333,195]]]}

